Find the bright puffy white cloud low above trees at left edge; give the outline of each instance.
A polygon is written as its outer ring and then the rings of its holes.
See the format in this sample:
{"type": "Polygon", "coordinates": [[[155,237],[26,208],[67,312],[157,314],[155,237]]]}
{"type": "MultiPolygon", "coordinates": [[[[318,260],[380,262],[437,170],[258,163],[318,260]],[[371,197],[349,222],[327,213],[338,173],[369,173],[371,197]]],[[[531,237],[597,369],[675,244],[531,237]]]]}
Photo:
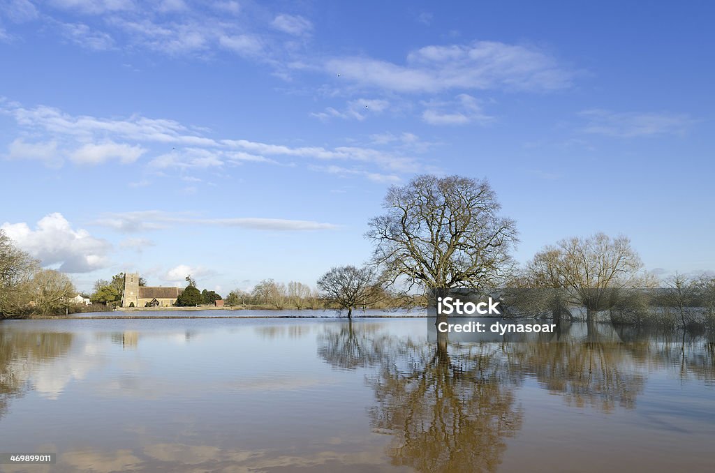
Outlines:
{"type": "Polygon", "coordinates": [[[34,230],[24,222],[5,222],[0,228],[42,264],[59,265],[62,272],[91,272],[109,264],[109,242],[92,237],[87,230],[72,229],[69,221],[57,212],[40,219],[34,230]]]}

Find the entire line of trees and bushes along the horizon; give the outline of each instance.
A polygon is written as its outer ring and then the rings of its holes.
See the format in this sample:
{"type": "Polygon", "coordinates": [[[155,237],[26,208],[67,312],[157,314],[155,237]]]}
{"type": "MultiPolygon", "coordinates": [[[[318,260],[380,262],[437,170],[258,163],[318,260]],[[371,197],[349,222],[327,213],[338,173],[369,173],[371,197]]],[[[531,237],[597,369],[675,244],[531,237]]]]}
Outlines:
{"type": "MultiPolygon", "coordinates": [[[[501,215],[488,181],[463,176],[416,176],[392,186],[383,214],[368,221],[373,254],[360,266],[332,267],[315,287],[264,279],[235,289],[228,307],[355,309],[425,305],[454,288],[501,297],[508,315],[609,319],[620,324],[715,327],[715,278],[676,274],[660,281],[646,271],[630,240],[596,233],[543,247],[524,265],[513,259],[516,223],[501,215]]],[[[4,235],[0,252],[0,313],[57,312],[74,292],[64,274],[41,269],[4,235]]],[[[180,306],[213,304],[220,294],[187,276],[180,306]]],[[[144,281],[140,281],[143,285],[144,281]]],[[[122,300],[124,274],[95,284],[92,302],[122,300]]]]}

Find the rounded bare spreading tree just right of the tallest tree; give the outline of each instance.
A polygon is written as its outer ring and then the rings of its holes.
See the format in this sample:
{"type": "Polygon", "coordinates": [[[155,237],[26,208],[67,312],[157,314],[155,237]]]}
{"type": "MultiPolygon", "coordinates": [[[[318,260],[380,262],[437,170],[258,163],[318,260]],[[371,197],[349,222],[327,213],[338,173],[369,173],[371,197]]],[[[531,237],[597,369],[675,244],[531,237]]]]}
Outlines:
{"type": "Polygon", "coordinates": [[[566,290],[568,302],[586,308],[586,322],[611,307],[614,296],[652,286],[638,253],[623,235],[597,233],[563,239],[536,254],[529,264],[531,277],[545,287],[566,290]]]}

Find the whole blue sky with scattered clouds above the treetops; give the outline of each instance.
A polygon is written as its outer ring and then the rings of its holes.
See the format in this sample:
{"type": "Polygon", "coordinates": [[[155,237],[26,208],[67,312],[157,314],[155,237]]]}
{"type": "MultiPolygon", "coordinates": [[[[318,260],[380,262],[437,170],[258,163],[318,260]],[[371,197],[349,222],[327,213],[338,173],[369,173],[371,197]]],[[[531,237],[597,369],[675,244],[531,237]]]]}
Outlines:
{"type": "Polygon", "coordinates": [[[486,178],[516,258],[626,234],[715,269],[715,6],[0,1],[0,224],[81,289],[370,256],[386,189],[486,178]]]}

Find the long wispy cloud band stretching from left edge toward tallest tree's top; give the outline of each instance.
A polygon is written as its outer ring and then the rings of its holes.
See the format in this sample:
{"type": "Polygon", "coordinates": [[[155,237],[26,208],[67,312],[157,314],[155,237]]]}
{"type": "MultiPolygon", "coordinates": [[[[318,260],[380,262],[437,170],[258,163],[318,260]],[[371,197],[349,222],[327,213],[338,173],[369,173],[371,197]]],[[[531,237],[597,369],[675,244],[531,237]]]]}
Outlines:
{"type": "MultiPolygon", "coordinates": [[[[355,101],[355,113],[363,104],[372,106],[373,111],[386,106],[382,101],[355,101]]],[[[11,142],[6,156],[38,159],[53,166],[60,165],[64,159],[71,159],[75,164],[101,164],[110,160],[129,164],[149,158],[147,163],[152,169],[208,169],[247,163],[292,165],[291,161],[281,159],[301,158],[359,161],[393,173],[411,174],[425,169],[419,159],[406,154],[407,149],[286,146],[247,139],[214,139],[204,135],[205,129],[170,119],[139,115],[126,119],[73,116],[48,106],[26,108],[2,101],[0,114],[12,116],[24,135],[11,142]],[[46,139],[31,142],[25,136],[45,136],[46,139]]]]}

